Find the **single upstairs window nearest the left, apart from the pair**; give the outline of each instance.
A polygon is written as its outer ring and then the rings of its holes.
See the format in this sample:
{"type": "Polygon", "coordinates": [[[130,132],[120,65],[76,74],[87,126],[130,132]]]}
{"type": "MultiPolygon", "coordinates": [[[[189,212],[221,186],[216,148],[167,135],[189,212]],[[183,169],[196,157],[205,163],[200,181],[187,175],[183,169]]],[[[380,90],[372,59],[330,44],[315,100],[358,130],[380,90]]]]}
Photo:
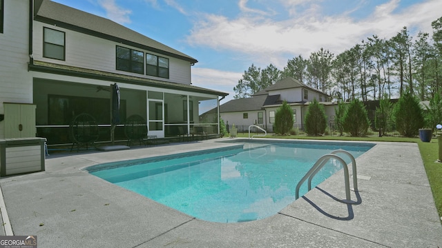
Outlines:
{"type": "Polygon", "coordinates": [[[64,60],[64,32],[50,28],[43,28],[43,41],[43,56],[45,58],[64,60]]]}

